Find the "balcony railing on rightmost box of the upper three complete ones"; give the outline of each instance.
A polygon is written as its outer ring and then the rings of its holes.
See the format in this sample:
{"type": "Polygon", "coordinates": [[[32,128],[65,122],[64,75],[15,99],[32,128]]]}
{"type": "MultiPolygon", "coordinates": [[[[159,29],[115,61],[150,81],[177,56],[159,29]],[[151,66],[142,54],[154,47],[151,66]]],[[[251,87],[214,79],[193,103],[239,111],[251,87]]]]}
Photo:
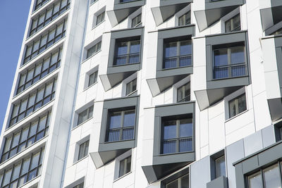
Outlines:
{"type": "Polygon", "coordinates": [[[239,77],[247,75],[246,63],[222,65],[214,67],[214,79],[239,77]]]}

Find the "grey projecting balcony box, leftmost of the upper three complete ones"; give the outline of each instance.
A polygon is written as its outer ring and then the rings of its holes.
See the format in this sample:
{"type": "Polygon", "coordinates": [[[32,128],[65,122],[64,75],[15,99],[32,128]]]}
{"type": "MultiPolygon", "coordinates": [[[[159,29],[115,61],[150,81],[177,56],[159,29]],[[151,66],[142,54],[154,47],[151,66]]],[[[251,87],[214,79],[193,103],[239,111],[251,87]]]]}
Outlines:
{"type": "Polygon", "coordinates": [[[108,68],[106,75],[100,75],[106,91],[140,70],[143,32],[144,27],[111,32],[108,68]]]}

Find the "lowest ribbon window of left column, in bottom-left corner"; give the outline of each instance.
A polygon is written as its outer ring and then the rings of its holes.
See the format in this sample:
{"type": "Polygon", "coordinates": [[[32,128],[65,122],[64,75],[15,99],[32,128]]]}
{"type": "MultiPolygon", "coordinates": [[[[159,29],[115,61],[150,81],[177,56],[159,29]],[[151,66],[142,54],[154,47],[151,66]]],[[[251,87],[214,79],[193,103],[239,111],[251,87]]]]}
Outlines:
{"type": "Polygon", "coordinates": [[[31,156],[14,163],[11,168],[4,169],[4,173],[0,174],[1,187],[20,187],[40,175],[43,154],[44,148],[41,148],[31,156]]]}

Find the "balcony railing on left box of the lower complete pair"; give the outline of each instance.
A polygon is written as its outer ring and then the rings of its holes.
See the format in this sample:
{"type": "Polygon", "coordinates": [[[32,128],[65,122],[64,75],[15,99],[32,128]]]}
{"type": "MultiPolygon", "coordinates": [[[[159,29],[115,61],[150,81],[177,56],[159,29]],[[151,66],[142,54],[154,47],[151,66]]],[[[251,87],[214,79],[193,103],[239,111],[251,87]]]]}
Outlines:
{"type": "Polygon", "coordinates": [[[134,138],[134,127],[121,127],[108,131],[107,142],[116,142],[134,138]]]}

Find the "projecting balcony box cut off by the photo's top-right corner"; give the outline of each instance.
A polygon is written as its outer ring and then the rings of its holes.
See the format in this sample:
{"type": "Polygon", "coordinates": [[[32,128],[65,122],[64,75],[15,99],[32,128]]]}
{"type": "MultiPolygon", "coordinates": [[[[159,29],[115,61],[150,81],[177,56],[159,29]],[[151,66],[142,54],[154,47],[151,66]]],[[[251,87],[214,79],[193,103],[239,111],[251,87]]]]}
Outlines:
{"type": "Polygon", "coordinates": [[[282,20],[282,1],[280,0],[259,0],[260,15],[262,18],[262,29],[276,25],[282,20]]]}

